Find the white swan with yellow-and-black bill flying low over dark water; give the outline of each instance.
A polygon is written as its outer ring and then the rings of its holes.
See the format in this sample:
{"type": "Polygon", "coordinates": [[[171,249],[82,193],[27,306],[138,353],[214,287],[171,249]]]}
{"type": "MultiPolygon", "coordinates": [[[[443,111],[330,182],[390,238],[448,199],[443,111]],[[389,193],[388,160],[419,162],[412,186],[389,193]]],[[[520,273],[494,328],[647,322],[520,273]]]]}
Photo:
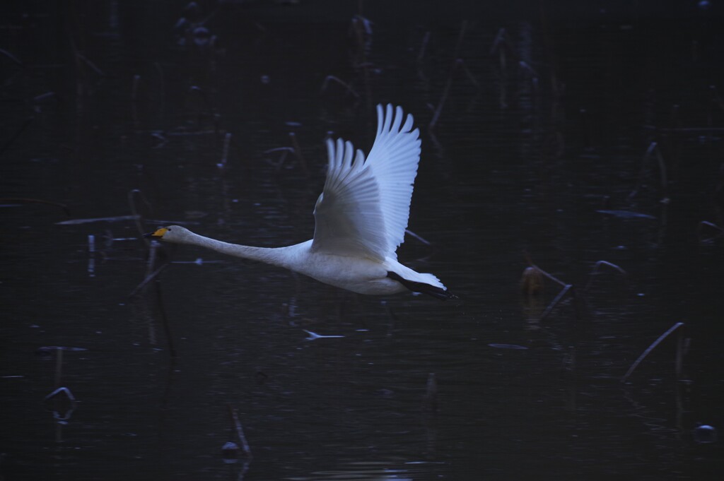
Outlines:
{"type": "Polygon", "coordinates": [[[377,134],[365,159],[350,142],[327,140],[329,165],[314,208],[314,237],[287,247],[252,247],[203,237],[181,226],[144,237],[190,244],[302,273],[360,294],[421,292],[455,299],[437,277],[397,262],[410,216],[420,161],[413,117],[388,104],[377,106],[377,134]],[[404,120],[404,123],[403,123],[404,120]]]}

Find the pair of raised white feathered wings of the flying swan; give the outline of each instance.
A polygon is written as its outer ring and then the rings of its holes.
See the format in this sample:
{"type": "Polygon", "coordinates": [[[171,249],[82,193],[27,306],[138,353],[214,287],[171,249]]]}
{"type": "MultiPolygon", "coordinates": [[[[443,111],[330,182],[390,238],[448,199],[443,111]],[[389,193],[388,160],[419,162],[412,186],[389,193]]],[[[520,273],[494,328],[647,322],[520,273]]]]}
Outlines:
{"type": "Polygon", "coordinates": [[[391,105],[377,106],[377,136],[366,161],[350,142],[327,140],[329,167],[314,208],[313,250],[395,258],[420,161],[418,129],[412,130],[411,115],[404,117],[400,107],[393,116],[391,105]]]}

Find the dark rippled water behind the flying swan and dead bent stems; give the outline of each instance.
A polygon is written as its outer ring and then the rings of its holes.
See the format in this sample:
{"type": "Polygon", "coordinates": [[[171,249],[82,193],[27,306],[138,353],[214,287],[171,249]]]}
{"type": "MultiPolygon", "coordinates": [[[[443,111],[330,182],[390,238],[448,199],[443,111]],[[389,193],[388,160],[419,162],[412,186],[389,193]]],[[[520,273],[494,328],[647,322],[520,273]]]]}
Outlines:
{"type": "Polygon", "coordinates": [[[174,30],[183,2],[7,9],[0,474],[720,479],[721,441],[695,436],[724,425],[724,244],[699,231],[724,226],[720,10],[360,4],[373,23],[357,37],[357,2],[201,3],[213,46],[174,30]],[[329,75],[354,93],[323,90],[329,75]],[[129,297],[148,270],[135,222],[59,224],[130,216],[140,190],[145,230],[301,242],[324,138],[369,150],[379,102],[422,132],[410,229],[433,247],[408,238],[400,259],[457,302],[361,297],[190,247],[159,251],[173,263],[129,297]],[[303,162],[266,153],[290,132],[303,162]],[[561,288],[521,295],[524,252],[578,302],[541,319],[561,288]],[[584,291],[599,260],[626,276],[604,265],[584,291]],[[621,383],[680,322],[682,372],[673,335],[621,383]],[[59,380],[51,346],[69,348],[59,380]],[[57,386],[77,403],[43,402],[57,386]],[[251,461],[222,457],[229,406],[251,461]]]}

